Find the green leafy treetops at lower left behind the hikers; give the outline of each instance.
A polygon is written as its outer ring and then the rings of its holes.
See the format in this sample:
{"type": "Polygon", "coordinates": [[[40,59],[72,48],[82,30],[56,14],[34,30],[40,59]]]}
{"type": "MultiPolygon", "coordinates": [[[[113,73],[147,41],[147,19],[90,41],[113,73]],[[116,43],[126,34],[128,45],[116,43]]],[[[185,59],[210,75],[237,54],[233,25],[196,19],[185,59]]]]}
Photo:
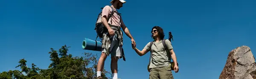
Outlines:
{"type": "MultiPolygon", "coordinates": [[[[27,61],[23,58],[15,67],[20,68],[21,71],[4,71],[0,73],[0,79],[96,79],[98,56],[84,53],[82,57],[73,57],[71,54],[67,54],[68,48],[70,47],[64,45],[58,52],[50,48],[49,54],[52,63],[47,69],[37,68],[34,63],[31,68],[28,68],[27,61]]],[[[102,77],[109,79],[108,75],[110,74],[104,69],[102,77]]]]}

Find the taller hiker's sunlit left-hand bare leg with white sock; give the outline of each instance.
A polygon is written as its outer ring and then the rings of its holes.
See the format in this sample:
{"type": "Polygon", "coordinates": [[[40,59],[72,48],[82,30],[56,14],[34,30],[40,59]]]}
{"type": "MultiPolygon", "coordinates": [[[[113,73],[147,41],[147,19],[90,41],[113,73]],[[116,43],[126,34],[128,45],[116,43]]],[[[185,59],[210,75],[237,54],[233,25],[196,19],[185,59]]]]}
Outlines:
{"type": "Polygon", "coordinates": [[[97,77],[101,76],[107,56],[108,56],[107,54],[102,52],[102,54],[99,58],[98,64],[97,64],[97,77]]]}

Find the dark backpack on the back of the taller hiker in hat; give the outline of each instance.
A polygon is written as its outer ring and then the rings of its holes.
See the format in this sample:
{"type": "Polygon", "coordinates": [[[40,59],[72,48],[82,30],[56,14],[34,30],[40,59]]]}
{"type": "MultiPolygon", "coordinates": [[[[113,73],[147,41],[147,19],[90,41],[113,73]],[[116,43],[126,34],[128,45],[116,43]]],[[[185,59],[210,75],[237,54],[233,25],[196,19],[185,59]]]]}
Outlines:
{"type": "MultiPolygon", "coordinates": [[[[110,6],[111,7],[111,6],[110,6]]],[[[103,8],[101,8],[103,9],[103,8]]],[[[111,14],[108,16],[107,18],[107,22],[108,20],[112,17],[112,15],[114,14],[114,9],[113,7],[111,7],[111,14]]],[[[97,21],[96,21],[96,25],[95,25],[95,28],[94,30],[96,30],[96,33],[97,33],[97,37],[96,39],[99,37],[101,40],[102,40],[102,37],[103,37],[103,34],[108,32],[108,29],[104,26],[104,24],[102,23],[102,11],[98,14],[98,18],[97,18],[97,21]]]]}

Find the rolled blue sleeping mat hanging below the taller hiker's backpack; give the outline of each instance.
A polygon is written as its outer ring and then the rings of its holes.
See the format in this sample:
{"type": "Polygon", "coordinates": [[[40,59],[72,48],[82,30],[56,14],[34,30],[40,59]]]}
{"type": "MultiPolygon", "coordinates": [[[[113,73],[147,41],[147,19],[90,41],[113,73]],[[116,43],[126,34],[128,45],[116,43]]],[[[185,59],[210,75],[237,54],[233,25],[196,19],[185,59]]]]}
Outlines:
{"type": "Polygon", "coordinates": [[[102,51],[102,42],[84,38],[82,48],[84,50],[102,51]]]}

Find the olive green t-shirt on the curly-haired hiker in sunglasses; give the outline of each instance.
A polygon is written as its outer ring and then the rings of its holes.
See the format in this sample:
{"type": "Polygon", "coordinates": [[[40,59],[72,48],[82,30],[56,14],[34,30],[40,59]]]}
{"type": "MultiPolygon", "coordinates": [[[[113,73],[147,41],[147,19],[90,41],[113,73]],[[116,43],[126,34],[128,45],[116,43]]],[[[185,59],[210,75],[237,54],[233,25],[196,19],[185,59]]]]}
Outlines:
{"type": "MultiPolygon", "coordinates": [[[[148,44],[144,48],[148,50],[150,53],[149,45],[150,45],[150,42],[148,42],[148,44]]],[[[169,49],[169,51],[173,49],[172,44],[169,40],[166,40],[166,47],[169,49]]],[[[154,41],[151,46],[151,50],[152,50],[152,58],[151,58],[149,68],[158,68],[158,67],[169,65],[168,56],[166,51],[164,51],[162,40],[160,40],[159,42],[154,41]]]]}

